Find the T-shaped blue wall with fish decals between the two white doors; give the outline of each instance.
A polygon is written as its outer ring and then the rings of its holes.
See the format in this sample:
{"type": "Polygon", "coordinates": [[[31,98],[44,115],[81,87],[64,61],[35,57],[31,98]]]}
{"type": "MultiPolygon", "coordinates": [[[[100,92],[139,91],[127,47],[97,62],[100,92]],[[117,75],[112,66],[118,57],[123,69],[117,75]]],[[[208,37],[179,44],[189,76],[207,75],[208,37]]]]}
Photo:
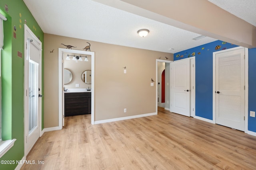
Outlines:
{"type": "Polygon", "coordinates": [[[174,54],[174,61],[196,56],[196,116],[213,119],[212,53],[234,47],[238,46],[218,40],[174,54]]]}

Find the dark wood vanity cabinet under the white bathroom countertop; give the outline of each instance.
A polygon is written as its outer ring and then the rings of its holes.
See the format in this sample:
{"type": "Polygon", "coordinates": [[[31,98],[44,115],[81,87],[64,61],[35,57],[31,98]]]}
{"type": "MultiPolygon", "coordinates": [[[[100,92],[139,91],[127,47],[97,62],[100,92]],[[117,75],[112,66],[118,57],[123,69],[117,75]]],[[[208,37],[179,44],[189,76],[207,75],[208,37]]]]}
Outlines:
{"type": "Polygon", "coordinates": [[[65,93],[65,116],[91,113],[91,93],[65,93]]]}

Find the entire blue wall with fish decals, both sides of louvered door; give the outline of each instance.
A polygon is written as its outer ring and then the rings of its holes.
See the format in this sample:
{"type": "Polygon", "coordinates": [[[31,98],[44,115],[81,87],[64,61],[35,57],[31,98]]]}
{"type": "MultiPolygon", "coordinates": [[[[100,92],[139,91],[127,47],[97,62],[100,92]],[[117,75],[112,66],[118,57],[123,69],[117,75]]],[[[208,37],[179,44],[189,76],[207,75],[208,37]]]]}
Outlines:
{"type": "MultiPolygon", "coordinates": [[[[212,53],[234,47],[238,46],[218,40],[174,53],[174,61],[196,56],[196,116],[213,119],[212,53]]],[[[250,111],[256,111],[256,48],[248,49],[248,60],[248,130],[256,132],[256,117],[250,117],[250,111]]]]}

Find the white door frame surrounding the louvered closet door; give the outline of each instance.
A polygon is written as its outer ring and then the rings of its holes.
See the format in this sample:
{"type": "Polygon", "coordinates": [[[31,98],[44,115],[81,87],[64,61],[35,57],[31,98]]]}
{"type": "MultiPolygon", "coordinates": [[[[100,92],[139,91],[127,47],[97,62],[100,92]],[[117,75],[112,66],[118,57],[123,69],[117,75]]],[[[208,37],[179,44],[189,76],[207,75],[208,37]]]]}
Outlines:
{"type": "MultiPolygon", "coordinates": [[[[231,49],[226,49],[222,51],[216,51],[212,53],[212,121],[214,124],[216,124],[216,96],[215,96],[215,91],[216,91],[216,54],[218,53],[224,53],[227,51],[233,51],[237,49],[243,49],[244,47],[234,47],[231,49]]],[[[244,132],[248,133],[248,48],[245,49],[245,54],[244,54],[244,85],[245,85],[245,92],[244,92],[244,116],[245,116],[245,121],[244,121],[244,132]]]]}

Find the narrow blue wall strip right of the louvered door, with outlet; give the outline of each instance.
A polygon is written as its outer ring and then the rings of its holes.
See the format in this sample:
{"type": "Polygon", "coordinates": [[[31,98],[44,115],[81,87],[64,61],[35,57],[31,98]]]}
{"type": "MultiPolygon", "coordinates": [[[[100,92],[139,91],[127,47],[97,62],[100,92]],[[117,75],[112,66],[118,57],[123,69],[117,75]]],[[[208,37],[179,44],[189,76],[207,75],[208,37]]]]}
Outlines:
{"type": "Polygon", "coordinates": [[[256,117],[250,117],[250,111],[256,111],[256,48],[248,49],[248,130],[256,132],[256,117]]]}

